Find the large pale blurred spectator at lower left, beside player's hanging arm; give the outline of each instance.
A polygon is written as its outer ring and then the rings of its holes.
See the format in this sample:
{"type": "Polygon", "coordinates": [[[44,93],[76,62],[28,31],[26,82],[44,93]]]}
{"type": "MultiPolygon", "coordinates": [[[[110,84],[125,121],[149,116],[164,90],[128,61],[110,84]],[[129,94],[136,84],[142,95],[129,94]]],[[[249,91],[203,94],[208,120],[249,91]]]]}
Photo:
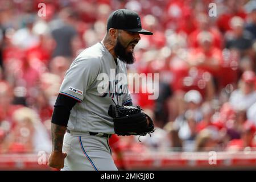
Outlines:
{"type": "Polygon", "coordinates": [[[51,151],[51,144],[46,129],[34,110],[28,107],[20,108],[14,112],[13,119],[15,126],[3,141],[3,153],[51,151]]]}

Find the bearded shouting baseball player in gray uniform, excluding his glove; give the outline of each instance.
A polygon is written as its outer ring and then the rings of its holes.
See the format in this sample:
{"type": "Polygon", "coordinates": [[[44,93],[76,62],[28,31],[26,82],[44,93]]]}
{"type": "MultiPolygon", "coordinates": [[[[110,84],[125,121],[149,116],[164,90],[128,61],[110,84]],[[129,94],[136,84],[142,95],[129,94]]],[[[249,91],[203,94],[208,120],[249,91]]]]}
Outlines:
{"type": "MultiPolygon", "coordinates": [[[[113,102],[132,105],[127,92],[99,93],[104,73],[127,75],[126,64],[134,63],[133,51],[142,29],[137,13],[114,11],[108,18],[104,39],[82,51],[65,74],[52,115],[52,152],[48,165],[62,170],[117,170],[108,144],[114,133],[108,109],[113,102]],[[67,131],[67,132],[66,132],[67,131]]],[[[110,80],[109,85],[117,84],[110,80]]],[[[122,85],[120,88],[125,88],[122,85]]]]}

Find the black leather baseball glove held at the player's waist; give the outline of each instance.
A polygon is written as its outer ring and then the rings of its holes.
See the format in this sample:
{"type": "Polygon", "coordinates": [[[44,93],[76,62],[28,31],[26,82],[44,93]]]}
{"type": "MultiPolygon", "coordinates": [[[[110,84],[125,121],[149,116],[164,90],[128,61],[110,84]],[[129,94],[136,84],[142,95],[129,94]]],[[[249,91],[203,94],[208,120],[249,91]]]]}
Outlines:
{"type": "Polygon", "coordinates": [[[108,114],[113,118],[117,135],[147,135],[155,131],[152,119],[140,106],[110,105],[108,114]]]}

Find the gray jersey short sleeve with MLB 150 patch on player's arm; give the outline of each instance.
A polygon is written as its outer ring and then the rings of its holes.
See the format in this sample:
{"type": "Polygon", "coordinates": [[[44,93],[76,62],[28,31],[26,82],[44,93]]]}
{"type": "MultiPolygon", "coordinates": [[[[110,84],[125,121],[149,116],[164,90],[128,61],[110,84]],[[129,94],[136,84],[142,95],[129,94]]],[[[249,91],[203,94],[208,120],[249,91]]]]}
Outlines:
{"type": "Polygon", "coordinates": [[[86,90],[96,81],[100,67],[100,60],[96,58],[75,60],[65,74],[59,93],[81,102],[86,90]]]}

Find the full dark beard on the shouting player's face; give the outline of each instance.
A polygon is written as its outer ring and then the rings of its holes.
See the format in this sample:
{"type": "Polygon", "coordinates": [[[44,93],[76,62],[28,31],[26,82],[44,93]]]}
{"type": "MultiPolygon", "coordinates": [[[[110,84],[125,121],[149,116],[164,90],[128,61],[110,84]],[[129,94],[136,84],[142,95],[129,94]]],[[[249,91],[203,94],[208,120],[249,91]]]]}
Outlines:
{"type": "Polygon", "coordinates": [[[133,64],[135,58],[132,52],[126,52],[126,48],[123,47],[119,39],[117,38],[117,44],[114,47],[115,55],[118,56],[119,60],[123,61],[126,64],[133,64]]]}

